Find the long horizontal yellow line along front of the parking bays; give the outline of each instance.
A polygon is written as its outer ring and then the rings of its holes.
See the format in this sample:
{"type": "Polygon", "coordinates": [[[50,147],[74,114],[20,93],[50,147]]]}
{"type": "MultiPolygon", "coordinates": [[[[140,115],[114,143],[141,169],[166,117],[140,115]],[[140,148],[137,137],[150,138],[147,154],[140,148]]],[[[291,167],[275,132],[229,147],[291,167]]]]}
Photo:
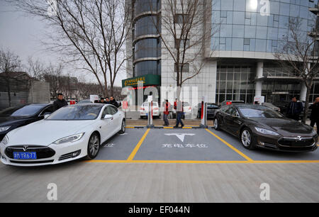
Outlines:
{"type": "Polygon", "coordinates": [[[319,160],[88,160],[93,163],[149,163],[149,164],[308,164],[319,163],[319,160]]]}

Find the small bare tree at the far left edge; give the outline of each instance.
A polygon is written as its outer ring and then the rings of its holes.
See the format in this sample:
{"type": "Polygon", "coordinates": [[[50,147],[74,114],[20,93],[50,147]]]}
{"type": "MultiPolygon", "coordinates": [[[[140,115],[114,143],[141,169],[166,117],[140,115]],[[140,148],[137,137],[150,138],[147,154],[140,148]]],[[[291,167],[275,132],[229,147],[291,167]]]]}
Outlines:
{"type": "Polygon", "coordinates": [[[17,72],[19,69],[21,69],[20,57],[10,50],[0,50],[0,73],[4,73],[4,76],[1,76],[1,79],[6,80],[9,107],[11,107],[10,79],[13,78],[10,74],[11,72],[17,72]]]}

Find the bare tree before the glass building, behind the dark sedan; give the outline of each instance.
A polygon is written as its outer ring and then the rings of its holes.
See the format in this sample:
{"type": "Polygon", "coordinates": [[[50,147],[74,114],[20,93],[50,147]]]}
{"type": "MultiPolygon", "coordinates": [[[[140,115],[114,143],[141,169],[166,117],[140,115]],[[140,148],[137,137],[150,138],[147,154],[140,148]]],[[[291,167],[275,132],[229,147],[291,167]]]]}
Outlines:
{"type": "MultiPolygon", "coordinates": [[[[315,37],[301,31],[301,25],[301,18],[289,18],[288,34],[284,35],[274,56],[286,69],[287,74],[297,77],[301,84],[306,85],[306,104],[302,120],[306,123],[310,89],[313,87],[313,79],[319,75],[319,58],[318,51],[315,51],[315,37]]],[[[315,32],[318,33],[318,30],[315,32]]]]}

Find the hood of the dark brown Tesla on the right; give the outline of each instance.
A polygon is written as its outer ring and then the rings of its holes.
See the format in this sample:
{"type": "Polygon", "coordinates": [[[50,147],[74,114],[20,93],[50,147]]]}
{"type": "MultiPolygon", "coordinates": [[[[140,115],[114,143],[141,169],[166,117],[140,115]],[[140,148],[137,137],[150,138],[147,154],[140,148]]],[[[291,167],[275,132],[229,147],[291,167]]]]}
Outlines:
{"type": "Polygon", "coordinates": [[[249,118],[260,128],[274,130],[276,133],[285,137],[291,136],[310,136],[313,128],[289,118],[249,118]]]}

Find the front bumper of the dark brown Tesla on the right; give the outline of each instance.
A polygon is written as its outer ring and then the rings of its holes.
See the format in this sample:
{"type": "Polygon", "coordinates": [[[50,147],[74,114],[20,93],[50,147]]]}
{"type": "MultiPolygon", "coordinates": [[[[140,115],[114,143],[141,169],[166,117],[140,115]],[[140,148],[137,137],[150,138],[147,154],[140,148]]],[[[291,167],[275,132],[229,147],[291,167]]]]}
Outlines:
{"type": "Polygon", "coordinates": [[[280,142],[280,140],[283,139],[281,136],[262,135],[259,133],[254,134],[257,139],[257,147],[259,148],[266,148],[269,150],[277,150],[282,152],[313,152],[318,149],[318,136],[313,136],[313,141],[310,144],[306,144],[305,142],[298,140],[291,145],[283,145],[280,142]]]}

